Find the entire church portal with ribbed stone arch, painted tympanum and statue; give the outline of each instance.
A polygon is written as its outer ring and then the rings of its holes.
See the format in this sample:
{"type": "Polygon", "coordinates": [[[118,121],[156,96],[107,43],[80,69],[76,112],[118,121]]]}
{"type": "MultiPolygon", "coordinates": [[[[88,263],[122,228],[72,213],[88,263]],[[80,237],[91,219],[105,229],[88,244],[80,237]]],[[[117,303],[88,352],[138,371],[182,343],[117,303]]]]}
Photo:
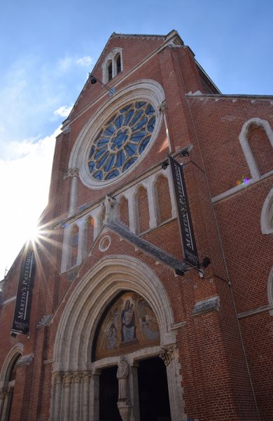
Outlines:
{"type": "Polygon", "coordinates": [[[100,376],[112,368],[116,381],[120,356],[129,367],[128,399],[118,398],[120,417],[140,421],[139,365],[162,349],[172,354],[165,369],[172,421],[186,420],[172,307],[160,279],[144,262],[109,256],[76,282],[56,334],[50,421],[99,421],[100,376]]]}

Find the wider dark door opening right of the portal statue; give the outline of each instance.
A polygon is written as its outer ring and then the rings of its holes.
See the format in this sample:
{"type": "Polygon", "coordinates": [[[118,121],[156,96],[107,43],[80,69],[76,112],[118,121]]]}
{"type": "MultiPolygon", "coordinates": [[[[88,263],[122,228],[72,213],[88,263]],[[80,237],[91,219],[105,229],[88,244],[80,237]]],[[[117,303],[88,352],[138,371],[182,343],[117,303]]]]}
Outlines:
{"type": "Polygon", "coordinates": [[[165,363],[159,357],[139,362],[141,421],[171,421],[165,363]]]}

